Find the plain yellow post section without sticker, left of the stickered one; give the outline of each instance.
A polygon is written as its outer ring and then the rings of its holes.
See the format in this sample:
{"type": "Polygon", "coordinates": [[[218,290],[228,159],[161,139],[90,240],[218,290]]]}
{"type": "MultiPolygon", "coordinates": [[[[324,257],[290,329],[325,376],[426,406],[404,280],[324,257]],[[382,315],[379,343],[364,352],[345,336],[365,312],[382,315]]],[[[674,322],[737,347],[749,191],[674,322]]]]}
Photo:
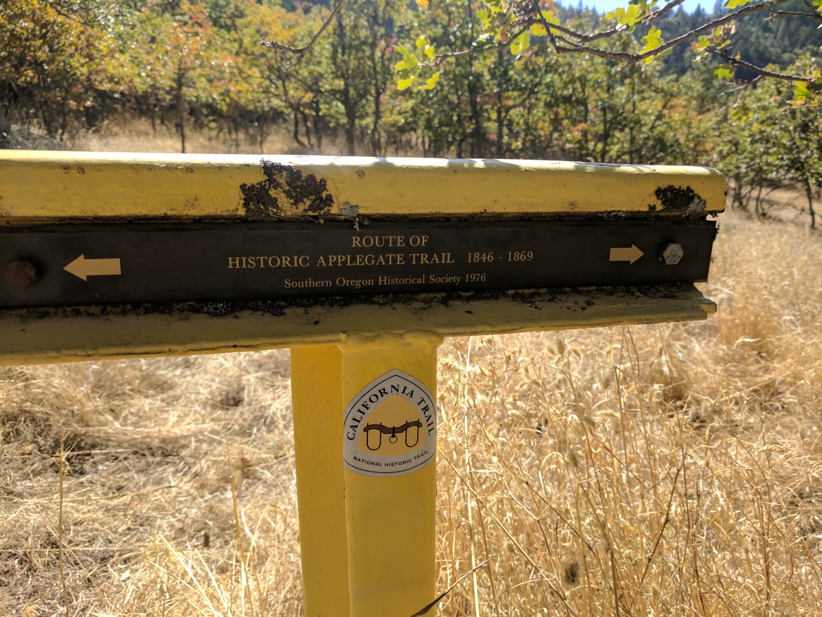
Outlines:
{"type": "Polygon", "coordinates": [[[342,356],[332,346],[291,350],[294,459],[306,617],[349,615],[343,476],[342,356]]]}

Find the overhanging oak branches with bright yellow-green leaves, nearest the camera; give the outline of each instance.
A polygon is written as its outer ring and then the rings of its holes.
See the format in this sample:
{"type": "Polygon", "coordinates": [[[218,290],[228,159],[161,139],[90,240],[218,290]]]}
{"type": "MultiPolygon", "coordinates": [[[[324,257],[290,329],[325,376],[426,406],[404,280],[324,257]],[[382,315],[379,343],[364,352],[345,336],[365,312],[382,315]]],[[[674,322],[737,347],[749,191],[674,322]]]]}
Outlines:
{"type": "MultiPolygon", "coordinates": [[[[510,45],[513,53],[520,53],[532,44],[534,37],[546,41],[552,51],[562,54],[584,54],[605,58],[623,65],[650,63],[654,58],[682,44],[691,43],[697,53],[710,54],[723,63],[717,69],[717,77],[735,81],[737,69],[752,73],[755,77],[736,80],[741,86],[749,86],[761,78],[778,79],[795,84],[794,100],[803,104],[820,104],[822,101],[822,76],[814,73],[794,73],[787,67],[762,67],[732,53],[732,42],[737,32],[737,21],[755,13],[764,13],[772,19],[801,19],[822,24],[822,0],[801,0],[801,10],[792,10],[794,0],[727,0],[727,12],[709,16],[700,26],[695,26],[672,39],[663,39],[656,25],[670,16],[684,0],[630,0],[626,7],[607,13],[604,21],[593,27],[578,27],[561,18],[552,0],[479,0],[475,15],[479,27],[469,26],[470,43],[461,50],[441,51],[434,45],[398,46],[403,58],[399,63],[399,84],[405,88],[418,84],[432,87],[447,61],[466,54],[483,53],[510,45]],[[615,49],[613,41],[624,33],[640,29],[640,49],[615,49]],[[542,36],[544,35],[544,37],[542,36]]],[[[333,14],[339,12],[345,0],[338,0],[333,14]]],[[[428,0],[418,0],[420,7],[428,7],[428,0]]],[[[325,30],[318,30],[319,35],[325,30]]],[[[460,30],[456,30],[459,35],[460,30]]],[[[315,39],[312,39],[312,43],[315,39]]],[[[289,49],[275,40],[265,43],[277,49],[289,49]]],[[[309,44],[310,46],[310,44],[309,44]]],[[[307,49],[292,49],[306,53],[307,49]]]]}

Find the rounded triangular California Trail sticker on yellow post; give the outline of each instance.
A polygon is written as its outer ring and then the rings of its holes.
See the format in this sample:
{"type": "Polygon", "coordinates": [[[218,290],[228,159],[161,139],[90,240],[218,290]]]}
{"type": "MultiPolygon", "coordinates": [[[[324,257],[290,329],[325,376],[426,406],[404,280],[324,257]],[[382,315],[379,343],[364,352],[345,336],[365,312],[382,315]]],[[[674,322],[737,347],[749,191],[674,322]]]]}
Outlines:
{"type": "Polygon", "coordinates": [[[399,370],[376,378],[345,408],[343,459],[363,476],[403,476],[432,462],[436,407],[427,387],[399,370]]]}

